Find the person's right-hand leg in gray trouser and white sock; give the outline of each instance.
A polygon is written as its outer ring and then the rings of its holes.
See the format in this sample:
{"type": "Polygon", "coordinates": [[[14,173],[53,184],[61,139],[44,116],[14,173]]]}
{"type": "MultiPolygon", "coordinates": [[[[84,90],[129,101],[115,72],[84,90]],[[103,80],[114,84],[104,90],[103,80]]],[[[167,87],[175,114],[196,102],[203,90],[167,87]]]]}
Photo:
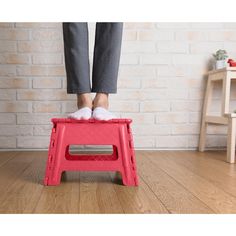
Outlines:
{"type": "Polygon", "coordinates": [[[114,117],[108,112],[109,93],[117,93],[123,23],[97,23],[94,45],[92,92],[93,116],[98,119],[114,117]]]}

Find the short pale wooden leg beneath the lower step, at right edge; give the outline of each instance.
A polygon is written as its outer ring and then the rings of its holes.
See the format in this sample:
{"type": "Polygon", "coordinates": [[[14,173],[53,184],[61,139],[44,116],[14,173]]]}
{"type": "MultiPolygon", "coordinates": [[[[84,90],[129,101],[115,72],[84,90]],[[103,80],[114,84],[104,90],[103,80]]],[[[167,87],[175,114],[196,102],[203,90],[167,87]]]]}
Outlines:
{"type": "Polygon", "coordinates": [[[227,162],[235,162],[236,119],[229,118],[227,138],[227,162]]]}

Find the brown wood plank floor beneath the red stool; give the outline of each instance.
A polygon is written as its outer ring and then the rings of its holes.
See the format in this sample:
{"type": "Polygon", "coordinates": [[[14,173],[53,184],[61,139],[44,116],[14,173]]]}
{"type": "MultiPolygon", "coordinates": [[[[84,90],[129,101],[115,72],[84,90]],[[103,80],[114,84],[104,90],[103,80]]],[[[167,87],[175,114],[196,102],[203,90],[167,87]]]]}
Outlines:
{"type": "Polygon", "coordinates": [[[0,152],[0,213],[236,213],[225,151],[136,151],[139,187],[113,172],[66,172],[43,186],[47,152],[0,152]]]}

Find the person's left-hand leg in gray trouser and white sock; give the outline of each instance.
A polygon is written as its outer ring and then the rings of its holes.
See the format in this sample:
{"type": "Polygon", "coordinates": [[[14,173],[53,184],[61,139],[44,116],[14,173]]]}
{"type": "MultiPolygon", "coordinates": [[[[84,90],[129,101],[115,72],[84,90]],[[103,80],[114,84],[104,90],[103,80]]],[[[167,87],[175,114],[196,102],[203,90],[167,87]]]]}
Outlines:
{"type": "Polygon", "coordinates": [[[72,118],[91,117],[90,72],[88,52],[88,25],[81,22],[63,22],[67,93],[77,94],[78,111],[72,118]]]}

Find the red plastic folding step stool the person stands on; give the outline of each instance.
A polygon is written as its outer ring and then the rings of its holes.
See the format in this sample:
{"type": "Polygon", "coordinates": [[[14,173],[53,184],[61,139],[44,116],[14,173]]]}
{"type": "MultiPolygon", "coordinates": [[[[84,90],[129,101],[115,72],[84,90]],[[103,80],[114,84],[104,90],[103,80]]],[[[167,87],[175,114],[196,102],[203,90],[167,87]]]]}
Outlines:
{"type": "Polygon", "coordinates": [[[119,171],[124,185],[137,186],[131,119],[75,120],[53,118],[44,178],[45,185],[59,185],[63,171],[119,171]],[[112,154],[73,155],[70,145],[112,145],[112,154]]]}

